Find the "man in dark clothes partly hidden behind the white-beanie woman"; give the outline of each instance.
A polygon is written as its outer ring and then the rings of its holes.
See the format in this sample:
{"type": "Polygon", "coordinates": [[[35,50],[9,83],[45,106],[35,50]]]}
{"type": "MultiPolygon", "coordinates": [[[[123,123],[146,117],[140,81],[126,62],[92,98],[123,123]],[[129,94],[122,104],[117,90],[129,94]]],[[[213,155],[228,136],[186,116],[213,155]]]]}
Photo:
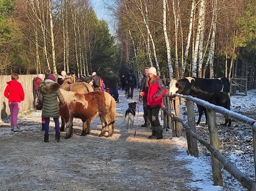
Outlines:
{"type": "MultiPolygon", "coordinates": [[[[140,83],[140,92],[148,92],[148,87],[146,86],[146,78],[148,76],[148,69],[150,68],[150,65],[147,65],[144,67],[144,74],[143,78],[140,83]]],[[[148,99],[147,97],[142,96],[142,102],[143,102],[143,118],[145,123],[142,125],[142,127],[148,127],[150,126],[150,120],[148,116],[148,99]]]]}

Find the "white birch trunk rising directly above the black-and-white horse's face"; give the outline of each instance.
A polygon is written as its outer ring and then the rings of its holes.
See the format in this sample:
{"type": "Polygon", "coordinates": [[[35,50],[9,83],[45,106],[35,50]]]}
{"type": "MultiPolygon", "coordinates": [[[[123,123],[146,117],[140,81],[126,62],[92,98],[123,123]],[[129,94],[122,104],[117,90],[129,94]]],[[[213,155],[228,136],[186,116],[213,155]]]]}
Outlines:
{"type": "Polygon", "coordinates": [[[167,61],[168,61],[168,67],[169,67],[169,73],[170,73],[170,80],[172,80],[173,78],[172,57],[171,57],[169,38],[166,30],[166,0],[163,0],[163,29],[164,29],[164,39],[166,44],[166,53],[167,53],[167,61]]]}

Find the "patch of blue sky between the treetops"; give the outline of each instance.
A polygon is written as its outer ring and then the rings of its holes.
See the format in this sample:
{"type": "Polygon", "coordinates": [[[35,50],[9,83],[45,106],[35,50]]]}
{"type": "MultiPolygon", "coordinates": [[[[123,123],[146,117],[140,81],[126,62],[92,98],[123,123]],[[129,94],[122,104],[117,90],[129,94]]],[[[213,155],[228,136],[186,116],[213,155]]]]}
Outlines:
{"type": "Polygon", "coordinates": [[[104,19],[108,22],[110,33],[114,35],[114,21],[110,15],[110,11],[104,7],[104,1],[109,2],[109,0],[91,0],[92,7],[96,12],[98,19],[104,19]]]}

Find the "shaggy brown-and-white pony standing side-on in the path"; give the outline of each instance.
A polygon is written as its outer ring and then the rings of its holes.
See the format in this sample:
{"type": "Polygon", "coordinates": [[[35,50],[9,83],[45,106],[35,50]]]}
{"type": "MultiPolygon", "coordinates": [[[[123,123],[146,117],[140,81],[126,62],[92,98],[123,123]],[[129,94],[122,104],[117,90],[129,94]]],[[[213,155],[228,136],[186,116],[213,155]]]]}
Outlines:
{"type": "Polygon", "coordinates": [[[83,121],[81,136],[90,133],[90,120],[98,114],[102,122],[100,137],[105,135],[108,126],[108,137],[114,132],[116,117],[116,102],[114,98],[103,91],[93,91],[86,94],[77,94],[72,91],[60,89],[64,96],[64,104],[60,105],[60,116],[66,123],[66,139],[72,136],[73,118],[80,118],[83,121]]]}

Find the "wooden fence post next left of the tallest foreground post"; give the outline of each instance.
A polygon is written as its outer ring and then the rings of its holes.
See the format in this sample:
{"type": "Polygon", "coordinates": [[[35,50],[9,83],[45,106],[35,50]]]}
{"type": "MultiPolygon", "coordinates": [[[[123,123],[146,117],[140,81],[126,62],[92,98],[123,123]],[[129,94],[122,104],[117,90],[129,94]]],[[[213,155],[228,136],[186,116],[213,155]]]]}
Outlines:
{"type": "MultiPolygon", "coordinates": [[[[187,113],[188,113],[188,126],[190,129],[196,133],[196,121],[195,121],[195,111],[194,111],[194,102],[187,100],[187,113]]],[[[198,147],[197,147],[197,140],[193,138],[190,134],[190,141],[191,141],[191,151],[192,156],[198,157],[198,147]]]]}

